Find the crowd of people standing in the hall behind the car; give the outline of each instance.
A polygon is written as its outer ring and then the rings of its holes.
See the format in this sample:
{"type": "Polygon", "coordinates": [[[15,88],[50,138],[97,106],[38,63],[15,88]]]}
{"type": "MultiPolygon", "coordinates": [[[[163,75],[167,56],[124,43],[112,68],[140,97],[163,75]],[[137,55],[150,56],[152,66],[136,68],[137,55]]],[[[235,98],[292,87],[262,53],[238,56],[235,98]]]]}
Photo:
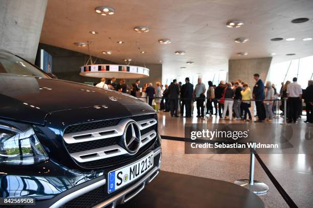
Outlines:
{"type": "Polygon", "coordinates": [[[213,85],[212,81],[208,82],[209,88],[199,77],[197,84],[193,86],[190,83],[189,77],[186,77],[185,84],[177,83],[173,80],[171,84],[161,85],[160,82],[155,83],[155,88],[152,83],[144,84],[140,87],[140,80],[132,83],[131,89],[121,79],[119,84],[116,84],[116,79],[113,78],[108,82],[102,78],[97,87],[118,90],[135,97],[142,97],[143,93],[147,98],[150,106],[155,106],[155,110],[170,112],[172,117],[191,117],[193,115],[194,102],[196,102],[197,117],[204,118],[207,116],[219,116],[220,119],[234,119],[252,121],[253,114],[250,111],[251,102],[255,102],[256,115],[258,119],[254,122],[272,122],[275,117],[277,102],[280,101],[280,110],[282,114],[286,114],[288,122],[297,122],[297,119],[302,114],[302,99],[306,105],[305,122],[312,123],[312,106],[313,106],[313,81],[308,81],[306,89],[302,89],[297,83],[297,77],[294,77],[293,83],[287,81],[282,83],[281,89],[278,92],[275,85],[267,81],[264,85],[259,74],[254,74],[256,81],[253,90],[251,91],[248,83],[242,82],[240,79],[234,82],[221,81],[218,86],[213,85]],[[281,97],[279,100],[278,98],[281,97]],[[286,100],[287,111],[284,112],[284,102],[286,100]],[[206,106],[206,112],[205,112],[206,106]]]}

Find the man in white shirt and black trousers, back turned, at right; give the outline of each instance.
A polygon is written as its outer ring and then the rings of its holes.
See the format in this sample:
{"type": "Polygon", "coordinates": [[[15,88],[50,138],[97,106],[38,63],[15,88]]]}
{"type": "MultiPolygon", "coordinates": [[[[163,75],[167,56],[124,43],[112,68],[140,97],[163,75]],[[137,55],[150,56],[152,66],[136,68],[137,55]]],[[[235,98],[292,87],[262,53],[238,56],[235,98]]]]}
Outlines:
{"type": "Polygon", "coordinates": [[[297,77],[294,77],[293,83],[290,83],[287,86],[286,93],[288,97],[289,107],[288,122],[291,123],[292,121],[294,121],[296,123],[302,98],[302,89],[301,86],[297,83],[297,77]]]}

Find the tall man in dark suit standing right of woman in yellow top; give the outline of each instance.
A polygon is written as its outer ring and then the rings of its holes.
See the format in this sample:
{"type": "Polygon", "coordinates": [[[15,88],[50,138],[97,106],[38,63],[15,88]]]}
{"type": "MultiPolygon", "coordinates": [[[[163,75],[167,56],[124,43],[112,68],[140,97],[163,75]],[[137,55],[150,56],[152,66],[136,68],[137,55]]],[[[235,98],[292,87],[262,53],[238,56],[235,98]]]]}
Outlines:
{"type": "Polygon", "coordinates": [[[255,101],[255,106],[257,109],[258,120],[254,122],[262,122],[265,119],[265,109],[263,105],[263,99],[265,98],[264,94],[264,83],[260,79],[260,74],[256,73],[253,75],[254,80],[256,81],[253,87],[253,98],[255,101]]]}

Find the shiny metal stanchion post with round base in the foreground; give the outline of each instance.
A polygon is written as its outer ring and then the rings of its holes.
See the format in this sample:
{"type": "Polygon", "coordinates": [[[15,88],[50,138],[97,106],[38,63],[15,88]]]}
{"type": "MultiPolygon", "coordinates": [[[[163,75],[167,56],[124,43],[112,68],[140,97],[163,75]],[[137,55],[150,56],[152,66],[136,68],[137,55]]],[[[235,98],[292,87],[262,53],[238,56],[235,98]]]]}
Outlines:
{"type": "Polygon", "coordinates": [[[254,156],[254,153],[251,149],[249,179],[236,180],[235,184],[239,185],[241,187],[247,188],[255,194],[260,194],[260,195],[266,194],[267,191],[269,191],[269,187],[266,184],[264,184],[258,180],[254,180],[254,160],[255,160],[255,156],[254,156]]]}

